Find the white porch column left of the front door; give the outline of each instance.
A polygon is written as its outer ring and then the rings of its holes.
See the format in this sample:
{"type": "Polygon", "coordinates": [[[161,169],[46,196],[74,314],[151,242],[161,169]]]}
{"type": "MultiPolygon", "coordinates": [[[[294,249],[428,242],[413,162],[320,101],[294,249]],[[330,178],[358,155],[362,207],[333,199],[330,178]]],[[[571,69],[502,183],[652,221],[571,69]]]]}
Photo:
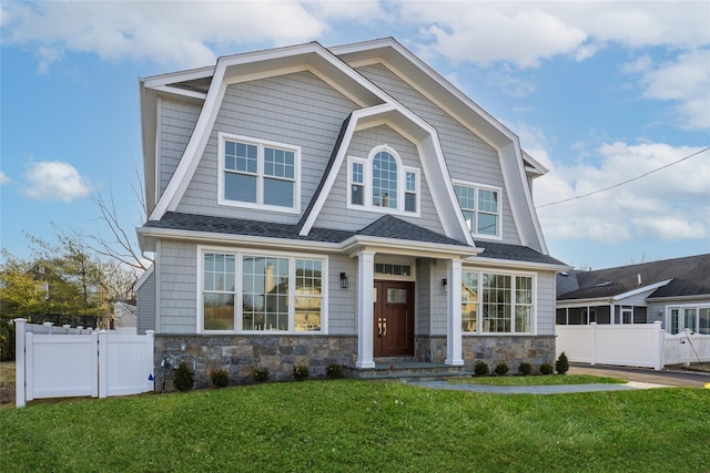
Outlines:
{"type": "Polygon", "coordinates": [[[357,254],[357,368],[375,368],[373,360],[373,287],[375,251],[357,254]]]}

